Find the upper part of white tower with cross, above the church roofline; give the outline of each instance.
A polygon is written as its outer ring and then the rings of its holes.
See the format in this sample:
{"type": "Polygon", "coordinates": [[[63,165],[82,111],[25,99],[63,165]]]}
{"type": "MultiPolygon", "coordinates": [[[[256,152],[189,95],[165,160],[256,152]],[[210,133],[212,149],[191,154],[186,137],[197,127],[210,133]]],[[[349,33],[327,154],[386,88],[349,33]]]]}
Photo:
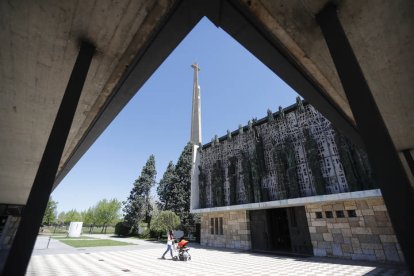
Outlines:
{"type": "Polygon", "coordinates": [[[198,85],[198,72],[200,68],[197,63],[191,65],[194,69],[193,82],[193,110],[191,113],[191,138],[194,145],[201,143],[201,102],[200,102],[200,85],[198,85]]]}

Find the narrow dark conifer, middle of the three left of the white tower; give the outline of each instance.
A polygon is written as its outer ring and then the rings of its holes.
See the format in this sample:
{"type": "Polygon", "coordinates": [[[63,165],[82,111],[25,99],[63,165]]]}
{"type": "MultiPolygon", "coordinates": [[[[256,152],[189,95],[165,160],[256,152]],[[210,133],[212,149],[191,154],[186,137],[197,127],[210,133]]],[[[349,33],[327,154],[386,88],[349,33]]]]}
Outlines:
{"type": "Polygon", "coordinates": [[[174,190],[178,183],[175,166],[172,161],[168,163],[167,169],[157,187],[159,207],[161,210],[171,210],[174,204],[174,190]]]}

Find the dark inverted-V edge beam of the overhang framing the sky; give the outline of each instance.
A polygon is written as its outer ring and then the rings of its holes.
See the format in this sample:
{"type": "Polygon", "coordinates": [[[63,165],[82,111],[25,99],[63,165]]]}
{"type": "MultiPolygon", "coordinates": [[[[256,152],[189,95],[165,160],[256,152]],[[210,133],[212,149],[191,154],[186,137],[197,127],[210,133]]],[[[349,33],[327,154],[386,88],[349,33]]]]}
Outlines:
{"type": "Polygon", "coordinates": [[[73,155],[56,177],[55,187],[89,149],[128,101],[139,91],[168,55],[203,18],[207,17],[256,56],[328,118],[354,143],[363,146],[353,122],[345,115],[288,51],[237,1],[183,0],[165,17],[152,39],[136,55],[112,97],[86,131],[73,155]]]}

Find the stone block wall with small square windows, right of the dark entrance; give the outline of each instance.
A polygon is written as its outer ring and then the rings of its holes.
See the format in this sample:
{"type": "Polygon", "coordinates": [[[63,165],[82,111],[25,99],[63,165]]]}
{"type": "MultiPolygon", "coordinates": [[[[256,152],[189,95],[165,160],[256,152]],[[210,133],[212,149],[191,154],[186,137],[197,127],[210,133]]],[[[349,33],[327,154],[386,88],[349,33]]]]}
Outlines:
{"type": "Polygon", "coordinates": [[[381,197],[310,204],[305,208],[315,256],[404,262],[381,197]],[[350,215],[348,210],[355,213],[350,215]],[[326,217],[327,211],[332,212],[332,218],[326,217]],[[343,211],[344,217],[337,217],[336,211],[343,211]],[[322,218],[317,218],[317,212],[322,218]]]}

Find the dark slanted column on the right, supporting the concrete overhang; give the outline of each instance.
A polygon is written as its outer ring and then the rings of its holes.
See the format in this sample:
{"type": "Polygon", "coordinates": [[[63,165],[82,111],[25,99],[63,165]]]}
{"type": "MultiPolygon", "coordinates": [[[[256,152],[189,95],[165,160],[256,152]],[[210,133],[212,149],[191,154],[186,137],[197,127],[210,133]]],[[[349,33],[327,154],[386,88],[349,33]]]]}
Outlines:
{"type": "Polygon", "coordinates": [[[336,6],[316,15],[377,177],[405,260],[414,274],[414,193],[388,129],[339,21],[336,6]]]}

